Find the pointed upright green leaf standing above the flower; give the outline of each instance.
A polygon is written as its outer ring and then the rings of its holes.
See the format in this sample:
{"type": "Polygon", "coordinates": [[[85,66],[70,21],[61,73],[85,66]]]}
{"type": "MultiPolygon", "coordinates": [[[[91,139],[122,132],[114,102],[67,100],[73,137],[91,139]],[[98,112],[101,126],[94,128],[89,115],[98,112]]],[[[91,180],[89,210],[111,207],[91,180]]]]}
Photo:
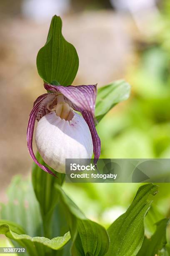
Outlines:
{"type": "Polygon", "coordinates": [[[47,83],[72,84],[77,74],[79,59],[75,47],[62,36],[62,20],[52,18],[45,46],[37,54],[37,70],[47,83]]]}

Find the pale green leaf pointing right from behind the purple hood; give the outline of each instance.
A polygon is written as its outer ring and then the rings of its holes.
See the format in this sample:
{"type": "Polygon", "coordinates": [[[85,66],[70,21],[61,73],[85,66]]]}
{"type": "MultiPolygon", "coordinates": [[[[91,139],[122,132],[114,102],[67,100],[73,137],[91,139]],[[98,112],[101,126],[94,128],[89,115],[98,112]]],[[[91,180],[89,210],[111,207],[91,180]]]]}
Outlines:
{"type": "Polygon", "coordinates": [[[99,122],[117,103],[127,100],[130,95],[130,85],[123,81],[115,81],[101,87],[97,91],[95,117],[99,122]]]}

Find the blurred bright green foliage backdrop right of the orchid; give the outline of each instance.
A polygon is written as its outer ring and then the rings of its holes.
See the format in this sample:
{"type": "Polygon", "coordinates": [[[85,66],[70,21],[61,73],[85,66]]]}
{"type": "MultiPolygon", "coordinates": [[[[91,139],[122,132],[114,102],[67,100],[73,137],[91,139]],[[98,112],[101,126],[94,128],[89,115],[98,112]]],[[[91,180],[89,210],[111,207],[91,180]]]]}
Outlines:
{"type": "MultiPolygon", "coordinates": [[[[97,125],[101,158],[170,158],[169,1],[160,1],[157,8],[147,27],[144,23],[144,31],[133,34],[133,61],[124,74],[132,86],[130,99],[113,108],[97,125]]],[[[154,205],[163,215],[170,216],[170,184],[159,186],[154,205]]],[[[88,217],[104,225],[125,211],[138,187],[139,184],[64,185],[88,217]]]]}

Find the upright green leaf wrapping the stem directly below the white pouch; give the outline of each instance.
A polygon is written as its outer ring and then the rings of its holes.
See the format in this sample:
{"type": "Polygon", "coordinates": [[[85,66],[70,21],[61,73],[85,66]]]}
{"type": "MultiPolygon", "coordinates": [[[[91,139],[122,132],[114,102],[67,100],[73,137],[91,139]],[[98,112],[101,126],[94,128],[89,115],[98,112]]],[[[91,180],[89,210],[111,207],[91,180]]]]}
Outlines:
{"type": "MultiPolygon", "coordinates": [[[[36,158],[41,164],[47,166],[47,164],[45,164],[38,152],[36,154],[36,158]]],[[[52,172],[55,172],[49,166],[47,167],[52,172]]],[[[58,202],[58,192],[55,189],[55,184],[62,185],[62,182],[65,178],[65,174],[60,174],[57,172],[55,172],[55,174],[57,175],[57,178],[42,171],[42,169],[40,169],[37,164],[33,163],[32,184],[37,200],[40,203],[45,236],[49,238],[52,236],[52,233],[50,231],[52,212],[58,202]]]]}

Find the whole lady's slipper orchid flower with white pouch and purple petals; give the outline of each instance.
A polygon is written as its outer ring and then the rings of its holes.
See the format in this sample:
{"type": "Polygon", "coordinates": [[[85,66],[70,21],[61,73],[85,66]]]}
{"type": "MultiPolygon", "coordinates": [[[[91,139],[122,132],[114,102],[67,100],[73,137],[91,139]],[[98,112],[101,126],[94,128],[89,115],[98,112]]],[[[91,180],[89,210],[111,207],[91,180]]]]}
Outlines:
{"type": "Polygon", "coordinates": [[[28,122],[28,150],[33,161],[52,175],[46,166],[40,164],[32,149],[35,120],[37,150],[42,159],[55,171],[65,172],[65,159],[89,159],[94,151],[94,162],[100,156],[100,138],[94,123],[96,85],[55,86],[44,84],[50,93],[35,100],[28,122]],[[74,110],[79,111],[82,117],[74,110]]]}

